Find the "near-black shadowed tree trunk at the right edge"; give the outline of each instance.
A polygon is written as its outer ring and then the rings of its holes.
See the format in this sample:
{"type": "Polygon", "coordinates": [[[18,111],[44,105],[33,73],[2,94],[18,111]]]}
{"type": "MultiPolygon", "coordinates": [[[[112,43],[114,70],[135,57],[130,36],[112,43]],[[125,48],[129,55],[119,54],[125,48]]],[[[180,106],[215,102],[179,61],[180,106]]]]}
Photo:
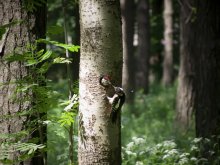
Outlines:
{"type": "Polygon", "coordinates": [[[220,3],[195,2],[191,53],[196,64],[196,135],[209,137],[220,134],[220,3]],[[194,46],[193,46],[194,45],[194,46]]]}

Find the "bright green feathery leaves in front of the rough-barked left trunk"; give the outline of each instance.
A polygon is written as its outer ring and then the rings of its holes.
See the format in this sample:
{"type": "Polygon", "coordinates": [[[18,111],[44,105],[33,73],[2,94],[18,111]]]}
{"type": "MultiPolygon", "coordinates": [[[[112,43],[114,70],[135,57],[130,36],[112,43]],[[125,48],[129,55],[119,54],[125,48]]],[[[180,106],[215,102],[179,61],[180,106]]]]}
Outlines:
{"type": "MultiPolygon", "coordinates": [[[[16,89],[10,99],[13,102],[20,104],[31,104],[28,109],[22,109],[21,112],[11,114],[7,116],[1,116],[4,119],[10,119],[14,117],[27,118],[28,123],[25,127],[25,131],[18,132],[16,134],[1,134],[1,156],[0,161],[4,163],[13,164],[15,162],[24,161],[34,156],[36,151],[45,147],[45,141],[43,137],[43,130],[46,125],[50,123],[47,120],[47,111],[57,107],[57,100],[59,94],[54,91],[47,83],[48,79],[45,77],[45,73],[48,69],[57,63],[70,63],[69,59],[59,57],[51,50],[37,50],[38,43],[50,43],[57,47],[68,49],[70,51],[78,51],[79,47],[74,45],[62,44],[55,41],[38,40],[35,44],[29,44],[24,51],[24,48],[18,48],[13,54],[4,56],[6,63],[21,62],[26,68],[28,68],[28,74],[24,75],[21,79],[14,82],[1,84],[1,86],[15,85],[16,89]],[[20,97],[18,97],[20,96],[20,97]],[[22,96],[22,97],[21,97],[22,96]],[[30,120],[31,119],[31,120],[30,120]],[[37,131],[38,130],[38,131],[37,131]],[[32,134],[38,132],[39,137],[31,138],[32,134]],[[6,139],[6,137],[10,137],[6,139]],[[22,141],[22,143],[20,142],[22,141]],[[11,157],[12,154],[16,154],[16,157],[11,157]]],[[[76,116],[76,109],[78,107],[77,96],[67,102],[66,111],[57,120],[61,125],[74,122],[73,116],[76,116]],[[71,111],[75,110],[75,111],[71,111]],[[71,120],[70,120],[71,119],[71,120]]]]}

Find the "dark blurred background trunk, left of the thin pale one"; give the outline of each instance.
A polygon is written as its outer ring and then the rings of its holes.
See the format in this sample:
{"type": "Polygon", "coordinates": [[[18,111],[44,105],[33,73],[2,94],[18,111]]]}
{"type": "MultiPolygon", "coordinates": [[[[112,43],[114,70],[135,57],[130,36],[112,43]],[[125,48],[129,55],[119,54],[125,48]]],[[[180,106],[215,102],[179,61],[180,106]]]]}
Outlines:
{"type": "Polygon", "coordinates": [[[136,87],[148,92],[149,86],[149,57],[150,57],[150,18],[149,1],[138,0],[137,4],[137,73],[136,87]]]}

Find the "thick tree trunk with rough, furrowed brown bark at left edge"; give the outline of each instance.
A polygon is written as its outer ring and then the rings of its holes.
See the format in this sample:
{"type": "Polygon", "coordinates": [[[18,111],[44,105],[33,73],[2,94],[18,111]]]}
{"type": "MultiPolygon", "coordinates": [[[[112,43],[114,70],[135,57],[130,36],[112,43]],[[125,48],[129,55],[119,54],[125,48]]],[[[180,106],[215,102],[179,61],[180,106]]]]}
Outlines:
{"type": "MultiPolygon", "coordinates": [[[[33,99],[34,96],[31,95],[29,98],[30,96],[17,90],[17,87],[21,85],[19,82],[28,77],[29,70],[22,62],[4,60],[9,54],[24,53],[36,39],[45,37],[46,5],[36,1],[32,3],[33,8],[28,6],[31,2],[23,0],[0,1],[0,26],[6,25],[5,33],[0,40],[0,134],[11,137],[0,139],[1,143],[4,141],[17,142],[18,137],[22,135],[22,132],[24,133],[32,119],[31,115],[28,117],[19,114],[31,109],[31,98],[33,99]],[[36,6],[35,3],[38,5],[36,6]],[[25,101],[25,99],[27,100],[25,101]]],[[[29,137],[23,136],[22,138],[29,139],[29,137]]],[[[24,139],[23,141],[25,141],[24,139]]],[[[19,153],[15,152],[12,159],[16,160],[18,156],[19,153]]],[[[31,161],[25,161],[25,164],[44,164],[43,159],[45,162],[45,157],[43,158],[41,155],[34,157],[31,161]]]]}

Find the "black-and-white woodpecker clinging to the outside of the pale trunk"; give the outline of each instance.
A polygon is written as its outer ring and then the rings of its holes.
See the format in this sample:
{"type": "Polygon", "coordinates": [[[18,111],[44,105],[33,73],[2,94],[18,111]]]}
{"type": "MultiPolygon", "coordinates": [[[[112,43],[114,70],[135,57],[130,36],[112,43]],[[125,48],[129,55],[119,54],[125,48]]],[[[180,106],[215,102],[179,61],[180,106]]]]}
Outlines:
{"type": "Polygon", "coordinates": [[[115,123],[117,120],[118,113],[121,111],[123,104],[125,103],[125,93],[122,88],[114,87],[115,94],[112,98],[107,97],[109,103],[112,106],[110,118],[112,119],[112,123],[115,123]]]}

